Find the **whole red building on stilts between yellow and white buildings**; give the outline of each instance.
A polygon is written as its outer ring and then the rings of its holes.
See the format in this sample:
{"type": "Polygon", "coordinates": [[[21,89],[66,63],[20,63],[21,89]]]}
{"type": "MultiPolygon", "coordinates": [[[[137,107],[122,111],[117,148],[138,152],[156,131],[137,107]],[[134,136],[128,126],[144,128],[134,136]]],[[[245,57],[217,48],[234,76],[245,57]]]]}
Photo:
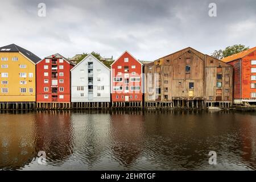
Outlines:
{"type": "Polygon", "coordinates": [[[71,73],[75,66],[60,54],[48,56],[36,64],[36,102],[39,108],[71,106],[71,73]]]}

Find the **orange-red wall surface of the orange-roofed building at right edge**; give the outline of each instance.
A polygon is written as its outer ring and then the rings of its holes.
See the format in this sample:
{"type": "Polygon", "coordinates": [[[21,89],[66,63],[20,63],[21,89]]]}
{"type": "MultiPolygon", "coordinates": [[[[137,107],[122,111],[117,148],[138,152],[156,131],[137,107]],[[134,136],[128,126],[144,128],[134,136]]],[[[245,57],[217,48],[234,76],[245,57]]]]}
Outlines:
{"type": "Polygon", "coordinates": [[[240,97],[242,99],[255,99],[251,98],[251,92],[256,92],[256,89],[251,89],[251,83],[256,83],[256,81],[251,80],[251,75],[256,75],[256,73],[251,73],[251,68],[256,68],[256,65],[251,65],[251,60],[256,60],[256,51],[242,58],[241,70],[240,60],[235,60],[228,63],[234,68],[234,99],[240,99],[240,97]]]}

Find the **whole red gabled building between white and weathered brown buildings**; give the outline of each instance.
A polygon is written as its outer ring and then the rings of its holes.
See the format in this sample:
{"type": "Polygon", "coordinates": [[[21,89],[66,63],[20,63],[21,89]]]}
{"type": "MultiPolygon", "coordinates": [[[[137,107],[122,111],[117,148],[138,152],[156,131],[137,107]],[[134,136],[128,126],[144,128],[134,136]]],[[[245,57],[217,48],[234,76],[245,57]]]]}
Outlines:
{"type": "Polygon", "coordinates": [[[142,63],[125,51],[111,65],[111,93],[114,107],[142,107],[142,63]]]}

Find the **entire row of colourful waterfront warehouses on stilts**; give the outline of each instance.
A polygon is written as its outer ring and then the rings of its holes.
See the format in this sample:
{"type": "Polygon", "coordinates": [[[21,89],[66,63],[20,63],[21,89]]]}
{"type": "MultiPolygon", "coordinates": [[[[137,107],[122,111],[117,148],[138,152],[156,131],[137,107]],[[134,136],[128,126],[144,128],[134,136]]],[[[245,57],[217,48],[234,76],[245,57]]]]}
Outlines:
{"type": "Polygon", "coordinates": [[[109,69],[93,55],[75,64],[10,44],[0,47],[0,110],[247,104],[256,101],[255,52],[218,60],[188,47],[145,63],[125,51],[109,69]]]}

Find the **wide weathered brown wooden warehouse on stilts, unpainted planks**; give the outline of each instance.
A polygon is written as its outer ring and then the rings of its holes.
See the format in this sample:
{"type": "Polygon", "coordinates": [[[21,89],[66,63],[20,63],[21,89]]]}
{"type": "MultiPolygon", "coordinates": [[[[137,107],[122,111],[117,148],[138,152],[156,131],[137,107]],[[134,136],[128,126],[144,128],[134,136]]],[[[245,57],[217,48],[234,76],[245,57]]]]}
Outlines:
{"type": "Polygon", "coordinates": [[[188,47],[144,65],[146,107],[229,107],[233,68],[188,47]]]}

